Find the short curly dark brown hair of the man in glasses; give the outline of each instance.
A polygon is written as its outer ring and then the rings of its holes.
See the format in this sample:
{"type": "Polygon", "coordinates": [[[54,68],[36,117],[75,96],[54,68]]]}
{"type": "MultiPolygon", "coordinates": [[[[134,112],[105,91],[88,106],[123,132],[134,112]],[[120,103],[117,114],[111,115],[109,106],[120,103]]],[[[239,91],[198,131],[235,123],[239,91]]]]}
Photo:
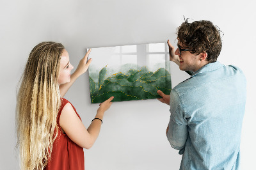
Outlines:
{"type": "Polygon", "coordinates": [[[177,28],[178,40],[190,50],[192,54],[207,53],[207,61],[213,63],[220,55],[222,42],[220,29],[209,20],[200,20],[192,23],[188,19],[177,28]]]}

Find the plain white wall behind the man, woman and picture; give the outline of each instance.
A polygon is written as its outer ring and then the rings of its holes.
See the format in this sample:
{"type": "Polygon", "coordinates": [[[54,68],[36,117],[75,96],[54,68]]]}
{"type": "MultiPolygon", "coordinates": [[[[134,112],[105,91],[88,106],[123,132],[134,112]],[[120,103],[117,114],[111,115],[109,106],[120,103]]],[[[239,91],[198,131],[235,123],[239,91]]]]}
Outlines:
{"type": "MultiPolygon", "coordinates": [[[[29,52],[38,43],[58,41],[77,65],[87,47],[136,43],[174,43],[185,17],[211,20],[225,33],[218,59],[237,65],[247,78],[247,103],[241,137],[243,169],[255,157],[255,2],[244,1],[1,1],[0,2],[0,166],[19,169],[15,157],[15,93],[29,52]]],[[[193,21],[191,20],[191,21],[193,21]]],[[[173,66],[173,84],[186,74],[173,66]]],[[[66,98],[76,106],[84,125],[95,116],[90,104],[88,73],[80,77],[66,98]]],[[[157,100],[116,102],[105,114],[97,142],[85,152],[86,169],[179,169],[181,156],[171,148],[165,130],[169,108],[157,100]]]]}

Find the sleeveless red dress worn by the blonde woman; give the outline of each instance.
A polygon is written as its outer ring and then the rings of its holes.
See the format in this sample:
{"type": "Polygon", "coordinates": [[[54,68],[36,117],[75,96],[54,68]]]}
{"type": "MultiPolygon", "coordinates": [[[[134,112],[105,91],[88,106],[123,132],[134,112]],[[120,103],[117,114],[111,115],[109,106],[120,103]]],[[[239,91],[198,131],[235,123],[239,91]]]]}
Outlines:
{"type": "MultiPolygon", "coordinates": [[[[65,98],[61,98],[61,107],[57,116],[58,125],[58,136],[56,137],[54,143],[52,144],[52,155],[51,160],[48,160],[45,170],[66,170],[66,169],[84,169],[84,150],[76,143],[69,139],[67,134],[63,134],[60,128],[60,114],[63,107],[70,103],[65,98]]],[[[71,104],[72,105],[72,104],[71,104]]],[[[74,111],[75,107],[72,105],[74,111]]],[[[77,112],[76,112],[77,114],[77,112]]],[[[80,118],[80,116],[77,114],[80,118]]],[[[80,118],[81,120],[81,118],[80,118]]]]}

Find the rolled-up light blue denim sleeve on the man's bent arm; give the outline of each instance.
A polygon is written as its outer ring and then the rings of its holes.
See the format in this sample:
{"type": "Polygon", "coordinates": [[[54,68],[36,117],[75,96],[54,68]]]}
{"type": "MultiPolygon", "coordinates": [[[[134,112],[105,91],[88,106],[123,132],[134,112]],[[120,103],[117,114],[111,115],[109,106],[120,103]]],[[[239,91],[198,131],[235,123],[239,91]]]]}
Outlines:
{"type": "Polygon", "coordinates": [[[188,124],[184,118],[184,104],[175,89],[172,89],[170,94],[170,122],[167,138],[172,148],[180,150],[180,154],[185,147],[188,138],[188,124]]]}

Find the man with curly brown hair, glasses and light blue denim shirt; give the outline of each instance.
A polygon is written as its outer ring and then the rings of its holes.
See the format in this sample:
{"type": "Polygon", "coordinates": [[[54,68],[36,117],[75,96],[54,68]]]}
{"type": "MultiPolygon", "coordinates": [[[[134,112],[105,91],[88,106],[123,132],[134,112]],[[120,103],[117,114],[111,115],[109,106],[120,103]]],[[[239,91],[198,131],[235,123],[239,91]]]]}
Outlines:
{"type": "Polygon", "coordinates": [[[168,40],[170,60],[191,77],[175,86],[170,96],[157,93],[161,102],[170,104],[166,135],[182,154],[180,169],[239,169],[244,74],[217,61],[222,43],[212,22],[185,20],[177,40],[176,50],[168,40]]]}

